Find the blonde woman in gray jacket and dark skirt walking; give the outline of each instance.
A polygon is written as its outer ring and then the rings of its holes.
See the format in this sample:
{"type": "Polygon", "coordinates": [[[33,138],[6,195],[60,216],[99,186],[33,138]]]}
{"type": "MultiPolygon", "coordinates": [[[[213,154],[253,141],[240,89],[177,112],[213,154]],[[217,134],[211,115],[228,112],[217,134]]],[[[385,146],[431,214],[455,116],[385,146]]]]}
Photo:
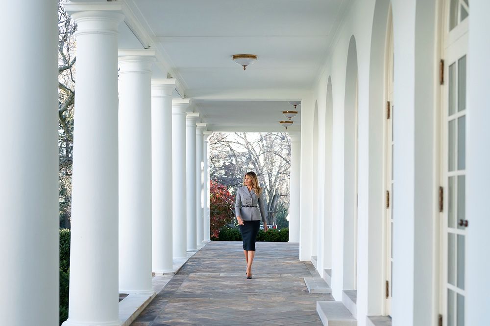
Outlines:
{"type": "Polygon", "coordinates": [[[257,174],[253,171],[247,172],[244,176],[244,186],[237,190],[235,202],[235,215],[244,240],[247,279],[252,278],[255,239],[257,239],[261,220],[264,222],[264,231],[267,231],[267,215],[262,195],[257,174]]]}

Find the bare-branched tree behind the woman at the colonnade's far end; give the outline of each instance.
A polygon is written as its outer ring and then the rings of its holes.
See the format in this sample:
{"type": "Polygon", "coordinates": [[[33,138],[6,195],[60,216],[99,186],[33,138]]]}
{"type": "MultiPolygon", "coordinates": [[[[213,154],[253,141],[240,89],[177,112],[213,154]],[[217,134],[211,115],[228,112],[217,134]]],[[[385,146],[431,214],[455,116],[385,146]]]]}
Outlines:
{"type": "Polygon", "coordinates": [[[235,192],[252,170],[259,176],[268,203],[269,223],[278,205],[289,207],[291,139],[286,133],[221,133],[210,139],[211,178],[235,192]]]}

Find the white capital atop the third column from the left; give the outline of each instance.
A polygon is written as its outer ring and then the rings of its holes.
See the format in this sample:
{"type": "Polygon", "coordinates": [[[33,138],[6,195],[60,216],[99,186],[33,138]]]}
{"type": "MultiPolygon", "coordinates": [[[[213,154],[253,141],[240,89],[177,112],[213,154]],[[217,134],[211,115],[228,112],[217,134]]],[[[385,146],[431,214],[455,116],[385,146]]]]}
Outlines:
{"type": "Polygon", "coordinates": [[[119,50],[119,74],[151,73],[151,65],[155,62],[154,50],[119,50]]]}

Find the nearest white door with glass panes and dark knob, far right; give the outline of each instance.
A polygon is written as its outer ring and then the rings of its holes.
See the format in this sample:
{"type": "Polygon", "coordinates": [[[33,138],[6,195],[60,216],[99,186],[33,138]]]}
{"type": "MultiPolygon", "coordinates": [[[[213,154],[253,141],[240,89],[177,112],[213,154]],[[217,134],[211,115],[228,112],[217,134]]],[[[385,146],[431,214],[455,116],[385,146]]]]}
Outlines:
{"type": "Polygon", "coordinates": [[[466,62],[468,0],[448,0],[443,25],[441,109],[441,315],[445,326],[465,325],[466,62]]]}

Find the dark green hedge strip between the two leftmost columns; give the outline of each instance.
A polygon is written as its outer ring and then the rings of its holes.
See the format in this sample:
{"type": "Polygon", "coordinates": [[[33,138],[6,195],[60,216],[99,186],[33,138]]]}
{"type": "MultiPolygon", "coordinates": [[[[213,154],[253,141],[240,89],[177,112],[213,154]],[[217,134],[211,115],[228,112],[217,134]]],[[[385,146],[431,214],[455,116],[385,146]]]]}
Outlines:
{"type": "Polygon", "coordinates": [[[60,325],[68,319],[70,291],[70,230],[60,229],[60,325]]]}

